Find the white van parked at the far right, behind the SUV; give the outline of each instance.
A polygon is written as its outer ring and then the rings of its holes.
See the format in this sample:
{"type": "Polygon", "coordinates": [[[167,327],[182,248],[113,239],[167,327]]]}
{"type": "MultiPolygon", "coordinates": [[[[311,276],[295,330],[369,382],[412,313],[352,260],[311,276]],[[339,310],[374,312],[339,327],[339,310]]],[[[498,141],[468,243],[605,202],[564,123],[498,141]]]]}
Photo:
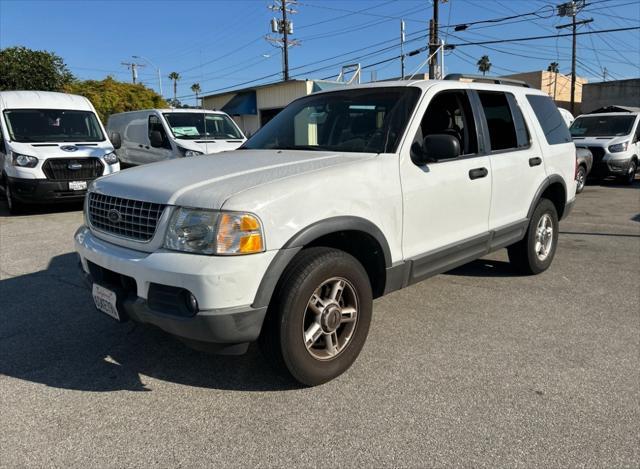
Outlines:
{"type": "Polygon", "coordinates": [[[583,114],[571,125],[571,135],[577,147],[593,155],[590,177],[634,181],[640,158],[640,109],[583,114]]]}

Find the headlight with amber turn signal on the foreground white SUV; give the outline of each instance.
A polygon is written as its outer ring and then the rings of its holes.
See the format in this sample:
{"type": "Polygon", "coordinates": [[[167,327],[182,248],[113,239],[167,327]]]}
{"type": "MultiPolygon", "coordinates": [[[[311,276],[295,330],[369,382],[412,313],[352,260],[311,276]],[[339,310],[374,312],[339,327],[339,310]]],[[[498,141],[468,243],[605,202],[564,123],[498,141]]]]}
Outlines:
{"type": "Polygon", "coordinates": [[[178,208],[165,247],[198,254],[252,254],[264,251],[262,226],[249,213],[178,208]]]}

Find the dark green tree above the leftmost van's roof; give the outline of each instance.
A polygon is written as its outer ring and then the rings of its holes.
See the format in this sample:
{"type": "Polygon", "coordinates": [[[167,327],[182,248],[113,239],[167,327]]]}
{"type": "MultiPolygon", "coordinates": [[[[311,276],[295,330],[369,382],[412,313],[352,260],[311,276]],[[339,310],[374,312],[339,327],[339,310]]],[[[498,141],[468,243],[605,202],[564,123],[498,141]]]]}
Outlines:
{"type": "Polygon", "coordinates": [[[61,91],[73,81],[62,57],[53,52],[8,47],[0,50],[0,91],[61,91]]]}

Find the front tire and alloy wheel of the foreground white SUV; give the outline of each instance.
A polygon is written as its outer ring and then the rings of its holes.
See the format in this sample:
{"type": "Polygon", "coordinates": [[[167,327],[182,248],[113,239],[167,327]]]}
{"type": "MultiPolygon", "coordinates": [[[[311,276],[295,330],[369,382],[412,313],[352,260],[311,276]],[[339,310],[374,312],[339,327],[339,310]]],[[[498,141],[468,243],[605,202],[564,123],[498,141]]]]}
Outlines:
{"type": "Polygon", "coordinates": [[[260,337],[262,349],[299,383],[326,383],[360,354],[372,307],[369,277],[353,256],[305,249],[283,275],[260,337]]]}

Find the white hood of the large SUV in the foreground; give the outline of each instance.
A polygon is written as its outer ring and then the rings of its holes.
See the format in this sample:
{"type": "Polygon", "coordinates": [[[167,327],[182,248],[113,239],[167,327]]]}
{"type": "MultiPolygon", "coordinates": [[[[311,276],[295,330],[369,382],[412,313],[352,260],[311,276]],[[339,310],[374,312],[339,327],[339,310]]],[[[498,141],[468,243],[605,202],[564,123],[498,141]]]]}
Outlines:
{"type": "Polygon", "coordinates": [[[372,154],[291,150],[237,150],[139,166],[95,181],[92,192],[127,199],[221,208],[233,194],[255,186],[352,162],[372,154]]]}

